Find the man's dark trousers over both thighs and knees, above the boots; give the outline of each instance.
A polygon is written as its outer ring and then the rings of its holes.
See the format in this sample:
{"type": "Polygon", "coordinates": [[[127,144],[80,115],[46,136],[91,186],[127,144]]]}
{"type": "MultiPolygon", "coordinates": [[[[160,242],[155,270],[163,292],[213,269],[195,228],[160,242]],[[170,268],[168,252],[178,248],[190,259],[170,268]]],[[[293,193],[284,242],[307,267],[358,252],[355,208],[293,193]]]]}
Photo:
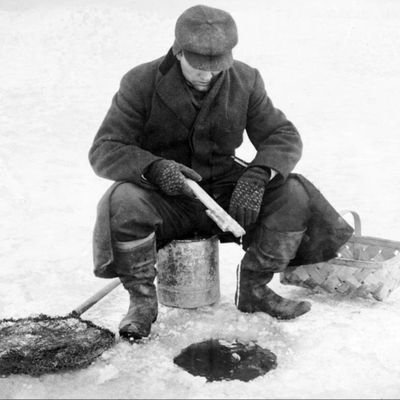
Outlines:
{"type": "MultiPolygon", "coordinates": [[[[225,209],[233,187],[215,190],[214,199],[225,209]]],[[[263,235],[263,231],[297,232],[306,228],[309,218],[309,196],[303,185],[289,177],[279,186],[267,186],[257,223],[247,229],[245,247],[263,235]]],[[[157,247],[173,239],[194,235],[219,234],[222,241],[232,241],[233,236],[223,235],[218,226],[205,213],[197,199],[186,196],[166,196],[157,190],[148,190],[132,183],[122,183],[110,199],[110,226],[117,241],[131,241],[156,233],[157,247]]]]}

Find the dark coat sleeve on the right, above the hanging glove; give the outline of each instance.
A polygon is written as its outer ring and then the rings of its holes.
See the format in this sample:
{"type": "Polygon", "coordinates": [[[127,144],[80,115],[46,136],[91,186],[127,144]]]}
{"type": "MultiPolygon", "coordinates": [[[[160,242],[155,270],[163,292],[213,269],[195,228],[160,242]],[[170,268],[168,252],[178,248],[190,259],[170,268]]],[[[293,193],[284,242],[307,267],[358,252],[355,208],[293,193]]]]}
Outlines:
{"type": "Polygon", "coordinates": [[[257,150],[253,166],[269,167],[285,179],[302,154],[302,141],[295,126],[267,96],[264,82],[256,71],[247,112],[246,131],[257,150]]]}

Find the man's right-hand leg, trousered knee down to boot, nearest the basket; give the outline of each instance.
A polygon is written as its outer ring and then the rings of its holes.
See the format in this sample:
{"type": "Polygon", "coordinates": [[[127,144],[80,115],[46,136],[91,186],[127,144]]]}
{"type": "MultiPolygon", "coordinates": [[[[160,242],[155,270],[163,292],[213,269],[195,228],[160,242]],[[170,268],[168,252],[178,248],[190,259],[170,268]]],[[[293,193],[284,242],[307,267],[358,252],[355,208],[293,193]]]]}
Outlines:
{"type": "Polygon", "coordinates": [[[243,312],[262,311],[278,319],[296,318],[311,308],[285,299],[267,284],[296,255],[309,219],[309,198],[294,178],[267,190],[251,242],[238,267],[235,303],[243,312]]]}

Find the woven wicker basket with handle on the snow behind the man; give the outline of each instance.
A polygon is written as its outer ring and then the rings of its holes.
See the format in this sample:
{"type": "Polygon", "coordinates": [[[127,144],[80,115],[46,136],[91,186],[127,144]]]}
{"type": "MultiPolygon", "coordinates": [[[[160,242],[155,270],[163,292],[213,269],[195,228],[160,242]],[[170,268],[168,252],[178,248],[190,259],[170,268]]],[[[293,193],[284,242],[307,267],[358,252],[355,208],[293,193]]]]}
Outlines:
{"type": "Polygon", "coordinates": [[[337,257],[317,264],[288,268],[280,281],[329,293],[386,299],[400,284],[400,242],[361,236],[361,219],[354,211],[354,235],[337,257]]]}

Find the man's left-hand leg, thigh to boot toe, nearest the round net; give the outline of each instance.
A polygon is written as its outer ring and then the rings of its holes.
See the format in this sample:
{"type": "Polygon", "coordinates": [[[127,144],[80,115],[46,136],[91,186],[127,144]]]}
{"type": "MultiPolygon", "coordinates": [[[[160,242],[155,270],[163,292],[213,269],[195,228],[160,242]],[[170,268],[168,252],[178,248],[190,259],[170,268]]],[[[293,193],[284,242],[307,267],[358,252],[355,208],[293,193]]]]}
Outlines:
{"type": "Polygon", "coordinates": [[[115,272],[130,296],[119,333],[137,340],[150,334],[157,318],[156,241],[190,234],[199,206],[189,198],[164,196],[131,183],[115,189],[110,206],[115,272]]]}

